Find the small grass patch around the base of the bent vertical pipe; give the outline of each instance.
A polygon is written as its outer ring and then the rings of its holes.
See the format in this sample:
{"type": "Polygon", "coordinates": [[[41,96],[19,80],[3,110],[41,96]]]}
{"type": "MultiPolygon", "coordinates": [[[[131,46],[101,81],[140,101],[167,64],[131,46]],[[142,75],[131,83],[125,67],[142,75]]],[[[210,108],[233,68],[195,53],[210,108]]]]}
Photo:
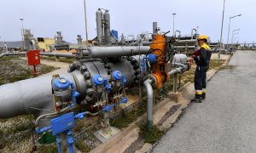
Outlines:
{"type": "Polygon", "coordinates": [[[164,135],[164,132],[155,126],[148,131],[147,124],[145,123],[140,124],[139,128],[140,128],[139,135],[143,138],[145,143],[154,144],[164,135]]]}

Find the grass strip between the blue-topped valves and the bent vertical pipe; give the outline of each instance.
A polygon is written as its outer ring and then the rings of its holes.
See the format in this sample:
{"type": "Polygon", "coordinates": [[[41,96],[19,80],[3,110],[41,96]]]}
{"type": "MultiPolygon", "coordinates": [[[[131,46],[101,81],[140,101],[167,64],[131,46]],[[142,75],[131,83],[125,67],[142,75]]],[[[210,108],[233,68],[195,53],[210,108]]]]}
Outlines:
{"type": "Polygon", "coordinates": [[[110,125],[117,128],[128,127],[131,122],[137,120],[138,116],[142,116],[146,112],[146,104],[140,105],[137,109],[131,112],[121,112],[121,116],[110,122],[110,125]]]}

